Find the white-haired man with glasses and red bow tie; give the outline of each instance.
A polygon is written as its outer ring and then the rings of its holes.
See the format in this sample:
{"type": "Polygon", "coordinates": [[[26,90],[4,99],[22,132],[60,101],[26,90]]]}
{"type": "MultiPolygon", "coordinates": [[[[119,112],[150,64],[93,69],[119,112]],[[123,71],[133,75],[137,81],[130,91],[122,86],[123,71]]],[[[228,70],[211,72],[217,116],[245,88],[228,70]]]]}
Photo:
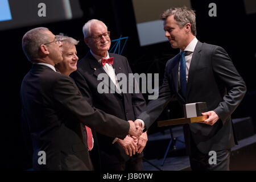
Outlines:
{"type": "MultiPolygon", "coordinates": [[[[125,84],[129,85],[128,75],[132,72],[126,57],[108,53],[110,32],[103,22],[96,19],[89,20],[85,23],[83,32],[84,41],[90,51],[77,63],[77,71],[73,72],[71,77],[93,107],[121,119],[135,119],[146,106],[146,102],[141,93],[123,92],[124,87],[121,88],[118,83],[117,75],[122,73],[127,78],[125,84]],[[105,88],[108,92],[98,92],[98,85],[101,83],[100,74],[105,74],[105,88]],[[114,87],[110,88],[111,85],[114,87]]],[[[131,136],[118,139],[97,133],[97,139],[102,170],[143,169],[142,150],[147,142],[146,132],[138,139],[131,136]]],[[[97,156],[95,152],[97,151],[92,150],[92,155],[97,156]]]]}

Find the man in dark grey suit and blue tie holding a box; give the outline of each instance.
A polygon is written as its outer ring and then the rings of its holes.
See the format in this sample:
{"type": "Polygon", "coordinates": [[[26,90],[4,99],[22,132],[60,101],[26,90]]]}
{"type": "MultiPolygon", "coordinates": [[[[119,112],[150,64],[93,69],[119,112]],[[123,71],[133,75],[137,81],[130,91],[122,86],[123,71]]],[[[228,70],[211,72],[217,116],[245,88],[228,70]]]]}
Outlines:
{"type": "Polygon", "coordinates": [[[157,100],[149,102],[136,123],[152,125],[171,98],[181,105],[207,102],[208,119],[184,125],[185,144],[193,170],[228,170],[230,148],[237,143],[230,115],[240,104],[245,82],[226,51],[196,39],[196,16],[187,7],[162,14],[164,31],[172,48],[181,52],[168,60],[157,100]],[[144,123],[143,123],[144,122],[144,123]],[[217,164],[210,164],[215,151],[217,164]]]}

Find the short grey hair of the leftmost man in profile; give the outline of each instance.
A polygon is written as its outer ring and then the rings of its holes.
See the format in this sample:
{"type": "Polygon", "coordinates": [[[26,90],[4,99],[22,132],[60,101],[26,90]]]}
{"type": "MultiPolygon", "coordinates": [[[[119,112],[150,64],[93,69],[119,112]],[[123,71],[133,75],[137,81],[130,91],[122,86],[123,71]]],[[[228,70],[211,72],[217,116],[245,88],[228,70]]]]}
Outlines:
{"type": "Polygon", "coordinates": [[[48,42],[48,36],[45,34],[48,28],[38,27],[26,32],[22,38],[22,49],[29,61],[40,58],[39,48],[42,44],[48,42]]]}

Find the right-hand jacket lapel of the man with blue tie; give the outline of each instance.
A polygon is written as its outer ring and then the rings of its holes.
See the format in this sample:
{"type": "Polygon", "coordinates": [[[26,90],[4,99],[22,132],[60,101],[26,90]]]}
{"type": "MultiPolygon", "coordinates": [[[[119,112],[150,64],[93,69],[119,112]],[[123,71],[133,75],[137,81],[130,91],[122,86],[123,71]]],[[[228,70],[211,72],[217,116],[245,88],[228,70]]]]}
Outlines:
{"type": "Polygon", "coordinates": [[[186,98],[188,98],[188,93],[189,93],[189,90],[191,89],[191,85],[192,85],[193,78],[195,76],[196,68],[200,61],[201,46],[202,46],[202,43],[198,41],[196,44],[196,47],[195,47],[195,51],[193,52],[192,60],[191,60],[189,71],[188,71],[188,84],[187,84],[186,98]]]}

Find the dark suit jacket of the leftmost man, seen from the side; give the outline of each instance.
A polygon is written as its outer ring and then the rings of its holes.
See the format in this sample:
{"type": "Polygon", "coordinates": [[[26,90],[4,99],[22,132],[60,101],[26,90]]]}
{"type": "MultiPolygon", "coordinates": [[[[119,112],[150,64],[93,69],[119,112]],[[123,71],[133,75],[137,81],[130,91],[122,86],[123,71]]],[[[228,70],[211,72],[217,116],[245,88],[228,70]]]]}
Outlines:
{"type": "Polygon", "coordinates": [[[93,169],[87,144],[82,142],[85,131],[81,123],[110,137],[125,138],[129,131],[127,121],[93,109],[72,78],[45,65],[32,65],[22,81],[20,96],[36,170],[93,169]],[[38,164],[39,151],[46,152],[46,165],[38,164]]]}

